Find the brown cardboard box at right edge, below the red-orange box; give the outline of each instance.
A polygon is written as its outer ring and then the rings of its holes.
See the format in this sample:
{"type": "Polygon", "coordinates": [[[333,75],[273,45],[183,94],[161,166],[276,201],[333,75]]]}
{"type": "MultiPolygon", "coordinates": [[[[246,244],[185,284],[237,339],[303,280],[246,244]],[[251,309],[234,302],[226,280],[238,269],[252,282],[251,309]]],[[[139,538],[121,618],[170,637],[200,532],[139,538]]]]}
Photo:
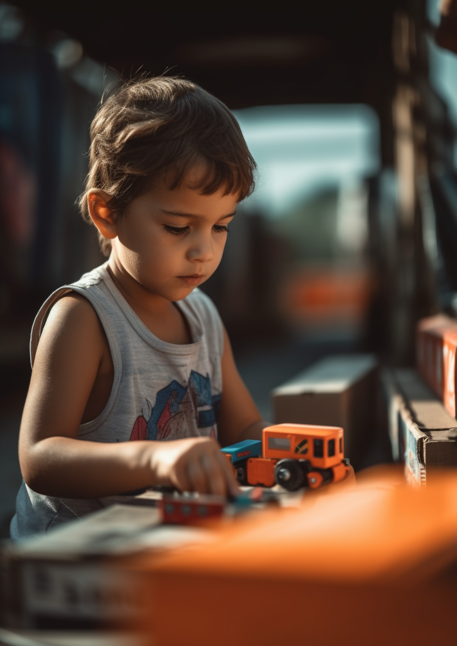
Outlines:
{"type": "Polygon", "coordinates": [[[392,454],[410,483],[425,485],[427,469],[457,466],[457,424],[415,370],[384,370],[392,454]]]}

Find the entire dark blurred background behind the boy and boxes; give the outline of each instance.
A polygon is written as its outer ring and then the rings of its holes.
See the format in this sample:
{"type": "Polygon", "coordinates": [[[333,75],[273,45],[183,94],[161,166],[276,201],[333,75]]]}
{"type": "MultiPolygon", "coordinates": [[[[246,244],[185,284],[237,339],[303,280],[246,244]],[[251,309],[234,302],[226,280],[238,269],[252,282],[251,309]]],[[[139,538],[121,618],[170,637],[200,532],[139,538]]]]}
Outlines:
{"type": "Polygon", "coordinates": [[[271,388],[316,359],[409,366],[418,318],[457,312],[448,5],[0,3],[0,536],[21,480],[34,315],[104,260],[75,205],[103,89],[183,74],[239,120],[258,188],[203,289],[269,419],[271,388]]]}

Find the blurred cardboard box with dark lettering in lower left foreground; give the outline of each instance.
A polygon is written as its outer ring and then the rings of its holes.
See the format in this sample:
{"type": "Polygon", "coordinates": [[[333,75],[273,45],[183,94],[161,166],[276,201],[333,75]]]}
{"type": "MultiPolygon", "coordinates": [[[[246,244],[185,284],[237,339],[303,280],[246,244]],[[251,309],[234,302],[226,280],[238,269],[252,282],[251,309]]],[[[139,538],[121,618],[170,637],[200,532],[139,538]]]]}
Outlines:
{"type": "Polygon", "coordinates": [[[142,607],[140,575],[125,572],[125,559],[209,537],[202,528],[158,523],[156,508],[113,505],[47,536],[8,542],[2,550],[3,624],[94,630],[134,623],[142,607]]]}

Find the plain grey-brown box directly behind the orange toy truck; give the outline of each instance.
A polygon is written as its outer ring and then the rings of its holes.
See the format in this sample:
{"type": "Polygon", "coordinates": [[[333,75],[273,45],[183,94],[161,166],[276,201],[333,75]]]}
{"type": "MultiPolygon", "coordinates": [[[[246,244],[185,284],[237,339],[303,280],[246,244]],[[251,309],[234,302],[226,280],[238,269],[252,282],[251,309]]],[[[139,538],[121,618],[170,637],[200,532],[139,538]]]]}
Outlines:
{"type": "Polygon", "coordinates": [[[275,424],[342,426],[345,456],[357,469],[374,435],[374,355],[326,357],[271,391],[275,424]]]}

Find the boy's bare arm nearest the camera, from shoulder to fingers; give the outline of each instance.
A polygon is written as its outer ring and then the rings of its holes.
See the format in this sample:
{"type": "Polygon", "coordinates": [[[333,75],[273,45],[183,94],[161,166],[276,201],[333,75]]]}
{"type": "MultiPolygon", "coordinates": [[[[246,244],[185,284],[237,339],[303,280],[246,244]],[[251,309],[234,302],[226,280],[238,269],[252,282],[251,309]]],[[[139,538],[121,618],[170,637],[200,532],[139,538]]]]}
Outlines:
{"type": "Polygon", "coordinates": [[[72,498],[151,485],[236,493],[229,465],[211,439],[122,443],[77,439],[94,383],[103,390],[103,378],[109,373],[111,359],[106,353],[105,333],[89,301],[79,295],[59,300],[41,335],[21,422],[19,461],[30,488],[72,498]]]}

